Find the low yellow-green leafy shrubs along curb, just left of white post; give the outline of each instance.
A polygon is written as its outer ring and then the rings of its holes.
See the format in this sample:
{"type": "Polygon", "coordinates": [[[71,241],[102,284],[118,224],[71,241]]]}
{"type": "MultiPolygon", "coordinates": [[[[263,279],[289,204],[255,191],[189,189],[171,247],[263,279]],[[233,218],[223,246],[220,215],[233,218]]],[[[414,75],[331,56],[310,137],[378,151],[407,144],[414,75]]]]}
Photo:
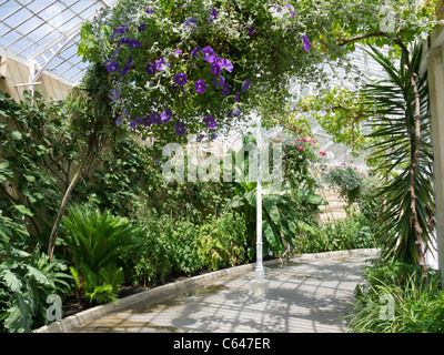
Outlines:
{"type": "Polygon", "coordinates": [[[171,216],[147,215],[144,244],[135,255],[135,280],[144,286],[164,282],[172,275],[219,270],[245,261],[243,216],[222,213],[190,222],[171,216]]]}

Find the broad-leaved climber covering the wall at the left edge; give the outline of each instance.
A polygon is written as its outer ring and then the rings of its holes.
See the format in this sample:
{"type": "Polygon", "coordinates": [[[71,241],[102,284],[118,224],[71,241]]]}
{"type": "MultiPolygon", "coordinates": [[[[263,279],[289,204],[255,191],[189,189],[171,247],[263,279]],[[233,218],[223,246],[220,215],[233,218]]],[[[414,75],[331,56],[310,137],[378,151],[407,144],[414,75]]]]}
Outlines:
{"type": "MultiPolygon", "coordinates": [[[[0,209],[14,227],[20,248],[32,250],[29,236],[48,235],[78,158],[78,140],[68,129],[62,105],[23,93],[19,103],[0,91],[0,209]],[[22,221],[24,216],[24,221],[22,221]],[[28,236],[28,237],[24,237],[28,236]]],[[[3,222],[4,223],[4,222],[3,222]]],[[[13,226],[10,224],[10,226],[13,226]]]]}

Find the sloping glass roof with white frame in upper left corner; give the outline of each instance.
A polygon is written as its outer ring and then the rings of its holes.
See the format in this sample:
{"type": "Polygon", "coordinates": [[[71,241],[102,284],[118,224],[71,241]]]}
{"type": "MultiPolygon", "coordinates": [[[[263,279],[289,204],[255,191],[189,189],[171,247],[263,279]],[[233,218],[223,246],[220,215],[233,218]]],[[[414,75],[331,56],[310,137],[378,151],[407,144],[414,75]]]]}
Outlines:
{"type": "Polygon", "coordinates": [[[0,0],[0,55],[74,85],[89,65],[77,55],[82,22],[115,3],[117,0],[0,0]]]}

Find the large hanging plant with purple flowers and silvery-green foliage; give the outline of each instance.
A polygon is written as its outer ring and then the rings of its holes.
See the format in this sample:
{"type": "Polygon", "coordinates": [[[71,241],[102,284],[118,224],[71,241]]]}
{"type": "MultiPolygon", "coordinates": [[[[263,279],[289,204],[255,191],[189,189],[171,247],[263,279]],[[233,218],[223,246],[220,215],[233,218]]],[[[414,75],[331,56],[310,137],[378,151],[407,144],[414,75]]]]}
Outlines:
{"type": "Polygon", "coordinates": [[[118,125],[163,142],[215,136],[282,103],[292,70],[313,74],[307,22],[291,2],[122,0],[84,24],[82,54],[112,75],[118,125]]]}

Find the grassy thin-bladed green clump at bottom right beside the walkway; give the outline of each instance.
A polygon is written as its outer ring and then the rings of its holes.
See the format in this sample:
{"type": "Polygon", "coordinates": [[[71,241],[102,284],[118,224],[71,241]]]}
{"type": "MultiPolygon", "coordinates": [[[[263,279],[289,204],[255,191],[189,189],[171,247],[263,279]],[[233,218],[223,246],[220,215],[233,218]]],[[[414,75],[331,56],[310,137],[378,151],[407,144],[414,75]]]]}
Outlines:
{"type": "Polygon", "coordinates": [[[365,283],[356,286],[350,328],[356,333],[444,333],[444,294],[438,272],[422,280],[418,265],[381,261],[364,270],[365,283]],[[393,303],[393,317],[386,314],[393,303]]]}

